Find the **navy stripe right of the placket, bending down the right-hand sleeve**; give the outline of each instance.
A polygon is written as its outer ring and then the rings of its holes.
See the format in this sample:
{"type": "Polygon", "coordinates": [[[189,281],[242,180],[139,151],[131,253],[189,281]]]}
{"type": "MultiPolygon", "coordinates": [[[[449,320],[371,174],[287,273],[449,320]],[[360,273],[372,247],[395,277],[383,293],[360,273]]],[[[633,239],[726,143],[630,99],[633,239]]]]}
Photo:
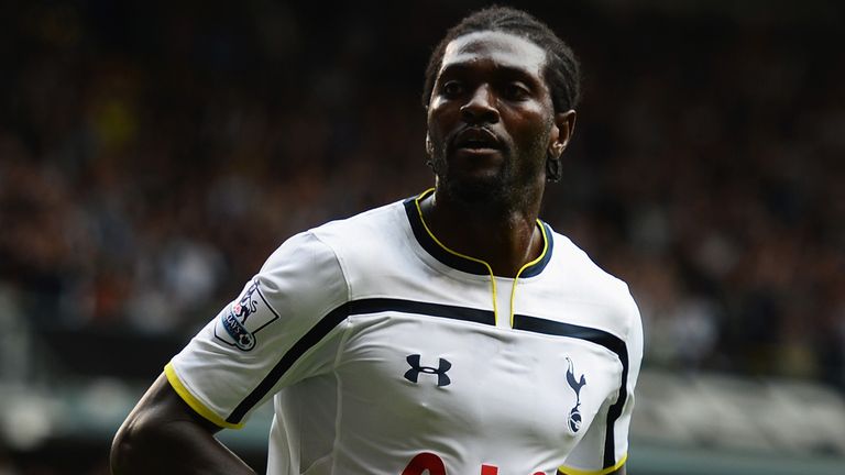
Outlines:
{"type": "Polygon", "coordinates": [[[614,429],[616,420],[622,416],[622,409],[625,407],[625,401],[628,398],[628,347],[625,342],[606,331],[523,314],[514,316],[514,330],[585,340],[616,353],[619,362],[622,362],[622,380],[616,402],[607,410],[607,430],[605,432],[603,460],[604,468],[616,465],[614,429]]]}

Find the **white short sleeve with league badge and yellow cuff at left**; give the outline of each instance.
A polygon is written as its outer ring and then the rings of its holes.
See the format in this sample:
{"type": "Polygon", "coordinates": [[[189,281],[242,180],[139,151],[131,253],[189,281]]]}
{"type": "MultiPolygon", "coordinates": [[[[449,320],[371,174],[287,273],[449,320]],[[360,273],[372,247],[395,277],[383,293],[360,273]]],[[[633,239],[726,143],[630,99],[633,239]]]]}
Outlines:
{"type": "Polygon", "coordinates": [[[167,379],[206,419],[239,428],[279,389],[331,371],[348,295],[332,250],[297,234],[173,357],[167,379]]]}

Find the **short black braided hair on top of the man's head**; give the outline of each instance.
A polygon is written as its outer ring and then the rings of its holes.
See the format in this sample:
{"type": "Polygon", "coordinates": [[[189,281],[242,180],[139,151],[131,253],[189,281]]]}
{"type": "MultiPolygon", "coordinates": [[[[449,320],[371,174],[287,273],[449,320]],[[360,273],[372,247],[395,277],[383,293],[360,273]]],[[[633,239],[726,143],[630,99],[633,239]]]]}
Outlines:
{"type": "Polygon", "coordinates": [[[437,73],[443,62],[446,46],[454,38],[476,32],[511,33],[541,47],[547,55],[544,76],[551,92],[555,112],[574,109],[581,98],[581,73],[572,49],[544,22],[529,13],[509,7],[489,7],[479,10],[452,26],[435,47],[426,67],[422,107],[428,107],[437,73]]]}

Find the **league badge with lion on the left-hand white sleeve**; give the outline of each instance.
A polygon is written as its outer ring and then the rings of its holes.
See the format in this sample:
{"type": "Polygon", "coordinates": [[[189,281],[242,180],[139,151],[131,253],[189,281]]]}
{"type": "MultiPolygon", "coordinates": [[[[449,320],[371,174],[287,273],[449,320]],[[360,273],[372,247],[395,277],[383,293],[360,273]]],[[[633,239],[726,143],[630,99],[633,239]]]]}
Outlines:
{"type": "Polygon", "coordinates": [[[278,318],[261,292],[259,280],[252,280],[241,296],[220,312],[215,338],[242,351],[255,347],[255,333],[278,318]]]}

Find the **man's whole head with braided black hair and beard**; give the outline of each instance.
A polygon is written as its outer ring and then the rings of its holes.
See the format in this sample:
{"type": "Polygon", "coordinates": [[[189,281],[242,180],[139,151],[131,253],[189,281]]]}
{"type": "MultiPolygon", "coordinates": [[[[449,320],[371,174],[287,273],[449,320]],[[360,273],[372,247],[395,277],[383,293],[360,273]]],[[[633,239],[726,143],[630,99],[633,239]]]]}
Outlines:
{"type": "Polygon", "coordinates": [[[426,73],[427,151],[439,186],[478,198],[541,194],[544,180],[560,177],[579,93],[578,62],[548,26],[507,8],[468,16],[426,73]]]}

